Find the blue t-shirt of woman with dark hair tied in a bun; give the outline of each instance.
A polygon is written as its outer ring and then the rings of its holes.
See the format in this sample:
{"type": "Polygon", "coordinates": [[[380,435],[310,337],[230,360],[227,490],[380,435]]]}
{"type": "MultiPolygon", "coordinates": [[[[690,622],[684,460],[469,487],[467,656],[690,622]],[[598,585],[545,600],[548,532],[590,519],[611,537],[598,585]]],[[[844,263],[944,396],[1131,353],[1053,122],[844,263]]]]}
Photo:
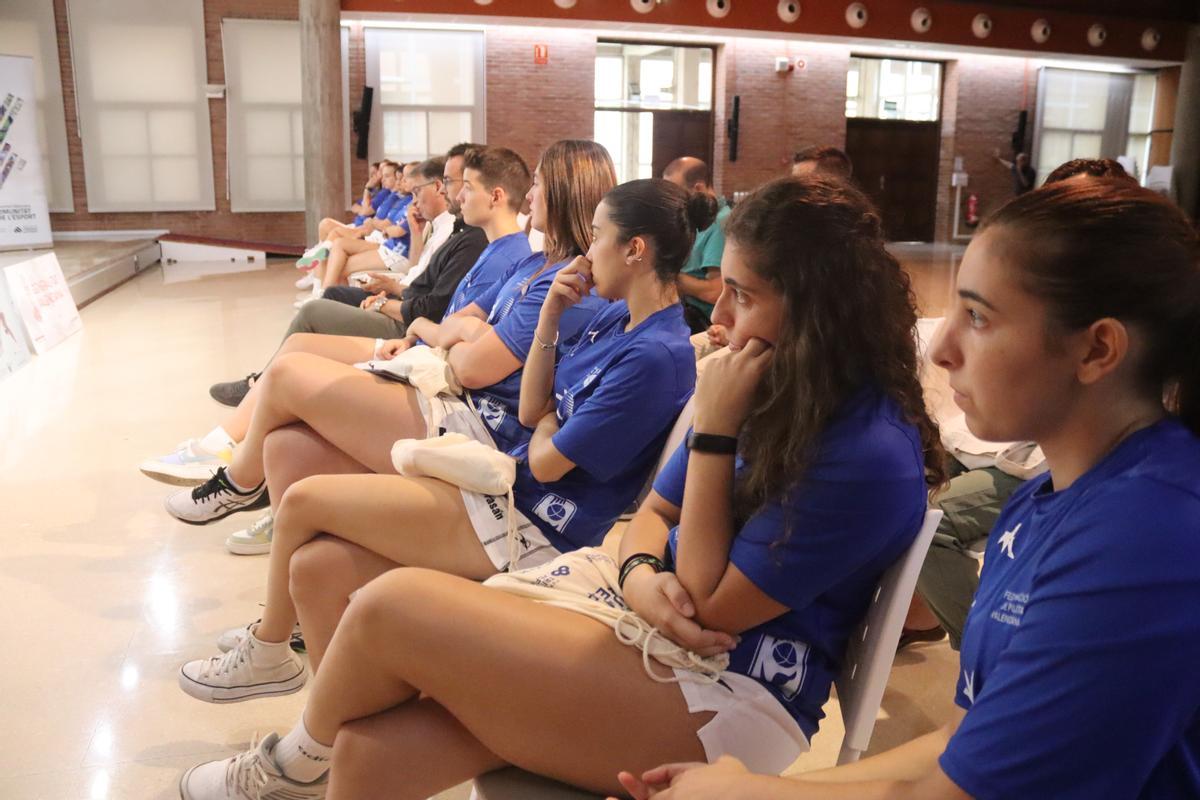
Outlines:
{"type": "Polygon", "coordinates": [[[599,545],[637,498],[674,420],[696,385],[696,353],[683,306],[631,331],[629,307],[613,302],[559,345],[554,369],[554,447],[575,468],[553,483],[529,471],[528,443],[512,487],[517,509],[558,551],[599,545]]]}

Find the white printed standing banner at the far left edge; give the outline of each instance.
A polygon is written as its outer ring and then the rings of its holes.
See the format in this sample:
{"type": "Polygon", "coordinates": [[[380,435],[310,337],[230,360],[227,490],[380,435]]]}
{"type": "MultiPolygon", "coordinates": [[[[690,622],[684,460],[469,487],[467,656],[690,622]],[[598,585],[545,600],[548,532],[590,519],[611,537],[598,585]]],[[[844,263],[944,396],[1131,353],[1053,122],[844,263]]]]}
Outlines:
{"type": "Polygon", "coordinates": [[[34,60],[0,55],[0,249],[50,245],[34,106],[34,60]]]}

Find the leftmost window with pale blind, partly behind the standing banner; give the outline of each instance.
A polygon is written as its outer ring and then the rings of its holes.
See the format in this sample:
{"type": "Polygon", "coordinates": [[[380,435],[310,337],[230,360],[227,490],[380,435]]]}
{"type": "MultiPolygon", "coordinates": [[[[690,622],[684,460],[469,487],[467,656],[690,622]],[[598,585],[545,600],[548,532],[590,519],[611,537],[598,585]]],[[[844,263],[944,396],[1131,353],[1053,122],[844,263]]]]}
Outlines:
{"type": "Polygon", "coordinates": [[[54,5],[46,0],[5,0],[0,4],[0,53],[34,59],[34,100],[47,205],[50,211],[74,211],[71,163],[66,157],[67,125],[62,113],[54,5]]]}

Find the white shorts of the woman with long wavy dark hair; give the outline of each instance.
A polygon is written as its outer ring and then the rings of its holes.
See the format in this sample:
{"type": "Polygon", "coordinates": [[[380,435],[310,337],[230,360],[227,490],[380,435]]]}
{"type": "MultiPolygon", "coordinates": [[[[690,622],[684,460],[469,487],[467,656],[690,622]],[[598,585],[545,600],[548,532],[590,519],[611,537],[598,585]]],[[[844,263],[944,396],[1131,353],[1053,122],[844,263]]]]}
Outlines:
{"type": "Polygon", "coordinates": [[[752,678],[721,673],[715,684],[702,684],[692,673],[676,669],[688,710],[715,711],[696,735],[709,763],[733,756],[751,772],[779,775],[808,752],[809,740],[782,703],[752,678]]]}

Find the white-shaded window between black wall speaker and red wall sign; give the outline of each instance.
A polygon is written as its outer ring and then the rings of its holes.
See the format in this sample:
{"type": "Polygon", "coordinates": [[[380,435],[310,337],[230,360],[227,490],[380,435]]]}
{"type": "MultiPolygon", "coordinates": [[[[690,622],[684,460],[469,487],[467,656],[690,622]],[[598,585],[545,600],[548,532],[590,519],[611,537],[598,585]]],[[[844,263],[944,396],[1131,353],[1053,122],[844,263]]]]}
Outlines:
{"type": "Polygon", "coordinates": [[[484,139],[481,32],[368,28],[366,50],[373,161],[418,161],[484,139]]]}

